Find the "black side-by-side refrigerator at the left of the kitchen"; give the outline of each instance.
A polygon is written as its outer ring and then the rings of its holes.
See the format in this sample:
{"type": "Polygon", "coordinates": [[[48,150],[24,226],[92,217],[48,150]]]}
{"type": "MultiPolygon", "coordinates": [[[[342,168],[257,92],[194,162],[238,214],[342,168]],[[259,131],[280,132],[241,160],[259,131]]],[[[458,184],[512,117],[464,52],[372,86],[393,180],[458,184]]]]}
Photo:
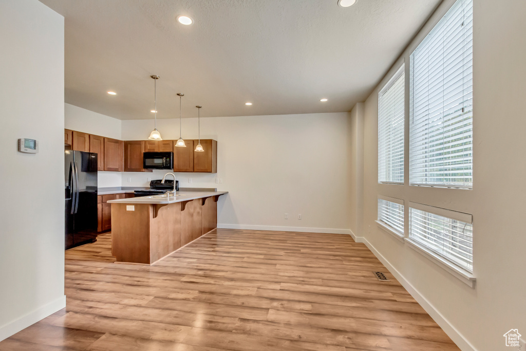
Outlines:
{"type": "Polygon", "coordinates": [[[65,150],[66,249],[97,240],[97,154],[65,150]]]}

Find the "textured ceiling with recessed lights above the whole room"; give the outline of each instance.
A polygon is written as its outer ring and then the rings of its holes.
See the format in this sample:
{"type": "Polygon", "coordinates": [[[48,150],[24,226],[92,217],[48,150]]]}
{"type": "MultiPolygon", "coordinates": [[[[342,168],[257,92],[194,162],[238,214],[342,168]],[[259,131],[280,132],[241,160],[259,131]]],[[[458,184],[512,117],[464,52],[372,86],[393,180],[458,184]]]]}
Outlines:
{"type": "Polygon", "coordinates": [[[158,118],[179,116],[179,92],[183,117],[349,111],[440,3],[41,1],[65,17],[66,102],[119,119],[153,118],[151,74],[158,118]]]}

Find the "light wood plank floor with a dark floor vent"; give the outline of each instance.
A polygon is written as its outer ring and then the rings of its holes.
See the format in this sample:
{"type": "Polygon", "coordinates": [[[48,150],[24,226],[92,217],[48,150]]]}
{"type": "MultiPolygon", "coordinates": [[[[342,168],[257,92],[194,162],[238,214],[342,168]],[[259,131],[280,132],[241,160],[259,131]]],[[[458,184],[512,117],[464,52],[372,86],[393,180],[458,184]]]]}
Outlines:
{"type": "Polygon", "coordinates": [[[66,251],[67,307],[1,350],[458,350],[348,235],[217,229],[154,266],[113,263],[110,235],[66,251]]]}

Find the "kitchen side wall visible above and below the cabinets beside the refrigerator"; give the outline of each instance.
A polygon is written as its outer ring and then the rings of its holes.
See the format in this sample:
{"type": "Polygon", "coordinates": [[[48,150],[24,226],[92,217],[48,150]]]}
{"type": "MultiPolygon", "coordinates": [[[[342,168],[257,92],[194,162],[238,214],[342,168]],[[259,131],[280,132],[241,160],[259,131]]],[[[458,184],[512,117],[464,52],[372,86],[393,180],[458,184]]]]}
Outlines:
{"type": "MultiPolygon", "coordinates": [[[[122,140],[120,119],[102,115],[85,108],[64,104],[64,127],[73,131],[122,140]]],[[[122,185],[120,172],[98,172],[98,187],[122,185]]]]}

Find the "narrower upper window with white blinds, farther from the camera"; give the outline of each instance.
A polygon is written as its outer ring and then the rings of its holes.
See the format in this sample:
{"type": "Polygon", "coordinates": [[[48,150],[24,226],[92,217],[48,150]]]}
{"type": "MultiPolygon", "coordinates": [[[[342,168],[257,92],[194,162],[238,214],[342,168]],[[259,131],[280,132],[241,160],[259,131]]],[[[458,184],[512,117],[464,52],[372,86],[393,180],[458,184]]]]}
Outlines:
{"type": "Polygon", "coordinates": [[[404,66],[378,97],[378,182],[403,184],[404,66]]]}

